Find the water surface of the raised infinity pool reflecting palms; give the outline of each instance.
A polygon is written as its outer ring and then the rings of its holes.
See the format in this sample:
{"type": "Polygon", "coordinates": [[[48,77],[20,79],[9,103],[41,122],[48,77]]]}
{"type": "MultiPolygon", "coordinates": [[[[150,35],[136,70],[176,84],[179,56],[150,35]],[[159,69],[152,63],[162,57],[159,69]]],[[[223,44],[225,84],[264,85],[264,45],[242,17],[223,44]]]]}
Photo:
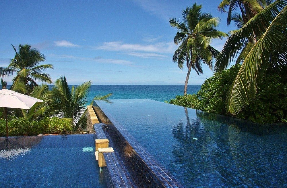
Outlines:
{"type": "Polygon", "coordinates": [[[95,101],[184,187],[286,187],[287,131],[148,99],[95,101]]]}

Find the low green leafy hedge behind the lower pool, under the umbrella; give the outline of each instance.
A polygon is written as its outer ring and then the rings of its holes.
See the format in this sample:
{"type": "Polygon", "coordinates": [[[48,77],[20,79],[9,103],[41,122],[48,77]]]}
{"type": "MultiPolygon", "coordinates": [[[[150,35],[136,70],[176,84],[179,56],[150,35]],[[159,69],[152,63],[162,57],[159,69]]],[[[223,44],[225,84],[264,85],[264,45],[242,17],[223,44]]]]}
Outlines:
{"type": "MultiPolygon", "coordinates": [[[[67,133],[73,130],[70,122],[57,117],[44,117],[40,121],[29,121],[24,117],[11,117],[8,120],[9,136],[33,136],[44,133],[67,133]]],[[[5,119],[0,119],[0,136],[6,135],[5,119]]]]}

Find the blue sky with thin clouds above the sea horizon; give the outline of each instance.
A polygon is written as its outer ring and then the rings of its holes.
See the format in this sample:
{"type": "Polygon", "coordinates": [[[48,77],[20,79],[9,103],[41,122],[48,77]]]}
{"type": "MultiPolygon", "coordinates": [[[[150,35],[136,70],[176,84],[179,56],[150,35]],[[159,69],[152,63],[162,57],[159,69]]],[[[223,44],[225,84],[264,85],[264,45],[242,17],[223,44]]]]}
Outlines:
{"type": "MultiPolygon", "coordinates": [[[[168,19],[195,2],[220,18],[219,30],[234,29],[217,11],[220,1],[1,1],[0,66],[13,58],[11,44],[28,43],[53,64],[53,81],[65,75],[69,84],[183,85],[187,68],[172,62],[177,30],[168,19]]],[[[213,46],[221,50],[224,42],[213,46]]],[[[191,72],[189,85],[213,74],[207,66],[203,72],[191,72]]]]}

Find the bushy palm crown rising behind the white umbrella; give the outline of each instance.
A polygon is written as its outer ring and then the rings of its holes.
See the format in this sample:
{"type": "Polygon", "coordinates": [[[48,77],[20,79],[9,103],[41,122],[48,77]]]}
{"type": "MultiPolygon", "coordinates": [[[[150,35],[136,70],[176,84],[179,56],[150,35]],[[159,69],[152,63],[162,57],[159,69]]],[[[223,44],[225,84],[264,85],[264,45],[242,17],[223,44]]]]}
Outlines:
{"type": "MultiPolygon", "coordinates": [[[[13,45],[12,45],[13,46],[13,45]]],[[[13,46],[15,51],[15,57],[11,60],[8,67],[0,67],[0,76],[11,76],[16,73],[13,78],[11,89],[14,90],[16,85],[23,83],[27,86],[29,91],[37,85],[36,81],[42,81],[44,83],[52,83],[52,79],[49,74],[42,73],[42,71],[53,68],[52,65],[39,65],[40,62],[45,60],[45,56],[40,53],[36,48],[31,48],[30,45],[19,45],[18,51],[13,46]]],[[[19,85],[18,85],[19,87],[19,85]]]]}

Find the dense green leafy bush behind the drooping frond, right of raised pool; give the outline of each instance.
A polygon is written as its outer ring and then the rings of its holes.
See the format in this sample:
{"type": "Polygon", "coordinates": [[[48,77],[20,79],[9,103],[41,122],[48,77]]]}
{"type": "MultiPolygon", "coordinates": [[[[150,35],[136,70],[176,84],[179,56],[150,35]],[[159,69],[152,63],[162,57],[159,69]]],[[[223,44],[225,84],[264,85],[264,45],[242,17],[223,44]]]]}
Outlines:
{"type": "MultiPolygon", "coordinates": [[[[240,66],[205,80],[197,94],[176,96],[169,103],[216,114],[233,116],[226,112],[226,96],[240,66]]],[[[259,83],[258,94],[246,108],[235,116],[258,123],[287,122],[287,83],[280,76],[266,76],[259,83]]]]}

